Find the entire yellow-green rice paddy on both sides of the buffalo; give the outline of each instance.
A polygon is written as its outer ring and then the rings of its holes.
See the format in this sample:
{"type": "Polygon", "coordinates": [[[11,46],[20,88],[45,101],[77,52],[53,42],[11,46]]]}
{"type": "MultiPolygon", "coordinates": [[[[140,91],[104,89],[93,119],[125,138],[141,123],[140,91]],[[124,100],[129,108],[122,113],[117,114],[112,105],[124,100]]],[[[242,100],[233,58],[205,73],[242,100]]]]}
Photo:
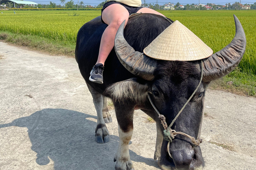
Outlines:
{"type": "MultiPolygon", "coordinates": [[[[179,20],[214,52],[230,43],[235,35],[233,14],[240,20],[247,47],[241,71],[256,75],[256,11],[159,11],[173,21],[179,20]]],[[[101,11],[3,11],[0,31],[35,35],[50,40],[76,42],[79,28],[101,11]]]]}

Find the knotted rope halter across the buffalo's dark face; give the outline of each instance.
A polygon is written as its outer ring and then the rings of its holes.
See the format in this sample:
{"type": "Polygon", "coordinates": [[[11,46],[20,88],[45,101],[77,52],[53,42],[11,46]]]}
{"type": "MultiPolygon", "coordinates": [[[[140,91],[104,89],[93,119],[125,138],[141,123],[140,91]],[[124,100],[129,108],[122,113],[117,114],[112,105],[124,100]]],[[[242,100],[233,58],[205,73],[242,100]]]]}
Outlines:
{"type": "MultiPolygon", "coordinates": [[[[151,103],[151,105],[153,106],[153,108],[155,109],[156,113],[158,114],[158,118],[160,119],[161,121],[161,124],[163,125],[164,127],[164,139],[166,141],[168,141],[168,144],[167,144],[167,151],[169,153],[169,156],[172,158],[172,155],[170,154],[170,151],[169,151],[169,147],[170,147],[170,142],[172,142],[172,140],[174,139],[174,137],[177,135],[177,134],[181,134],[181,135],[184,135],[184,136],[187,136],[188,138],[191,139],[191,143],[194,145],[194,146],[199,146],[200,143],[202,143],[202,139],[198,138],[197,140],[186,134],[186,133],[183,133],[183,132],[180,132],[180,131],[175,131],[173,129],[171,129],[172,125],[174,124],[174,122],[177,120],[177,118],[179,117],[179,115],[181,114],[181,112],[184,110],[184,108],[187,106],[187,104],[189,103],[189,101],[192,99],[192,97],[195,95],[196,91],[198,90],[201,82],[202,82],[202,79],[203,79],[203,62],[201,60],[201,63],[200,63],[200,66],[201,66],[201,78],[200,78],[200,81],[196,87],[196,89],[194,90],[194,92],[192,93],[192,95],[189,97],[189,99],[187,100],[187,102],[184,104],[184,106],[181,108],[181,110],[178,112],[178,114],[175,116],[175,118],[172,120],[171,124],[169,125],[169,127],[167,126],[167,123],[165,121],[165,117],[164,115],[161,115],[159,113],[159,111],[156,109],[155,105],[153,104],[149,94],[148,95],[148,98],[149,98],[149,101],[151,103]]],[[[202,115],[203,116],[203,115],[202,115]]]]}

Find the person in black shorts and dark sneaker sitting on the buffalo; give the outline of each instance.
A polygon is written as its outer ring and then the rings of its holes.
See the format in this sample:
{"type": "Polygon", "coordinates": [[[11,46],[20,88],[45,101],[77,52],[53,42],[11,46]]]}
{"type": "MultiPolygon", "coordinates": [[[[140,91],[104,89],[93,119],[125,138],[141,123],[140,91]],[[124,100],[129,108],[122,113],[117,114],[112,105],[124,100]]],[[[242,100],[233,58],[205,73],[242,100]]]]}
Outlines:
{"type": "Polygon", "coordinates": [[[90,72],[90,81],[103,84],[104,63],[114,47],[116,32],[124,20],[126,26],[129,15],[133,13],[164,16],[153,9],[142,7],[141,0],[109,0],[106,2],[101,10],[101,21],[108,26],[101,37],[98,60],[90,72]]]}

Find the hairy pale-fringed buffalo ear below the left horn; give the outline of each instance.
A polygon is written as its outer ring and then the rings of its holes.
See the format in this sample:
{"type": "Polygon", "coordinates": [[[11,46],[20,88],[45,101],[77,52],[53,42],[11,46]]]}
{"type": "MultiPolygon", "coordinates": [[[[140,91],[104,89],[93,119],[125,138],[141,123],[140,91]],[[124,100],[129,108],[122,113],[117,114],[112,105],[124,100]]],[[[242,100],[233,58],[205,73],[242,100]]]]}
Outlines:
{"type": "Polygon", "coordinates": [[[145,80],[140,81],[137,78],[130,78],[108,86],[103,95],[111,98],[113,102],[124,100],[142,102],[146,101],[149,88],[145,80]]]}

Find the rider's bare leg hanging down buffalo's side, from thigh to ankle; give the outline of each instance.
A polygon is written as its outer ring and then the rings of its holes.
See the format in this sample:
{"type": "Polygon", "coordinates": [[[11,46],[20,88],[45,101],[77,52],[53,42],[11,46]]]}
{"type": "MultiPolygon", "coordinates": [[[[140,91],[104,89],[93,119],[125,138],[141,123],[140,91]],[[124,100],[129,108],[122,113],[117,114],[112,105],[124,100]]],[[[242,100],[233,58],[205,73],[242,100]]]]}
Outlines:
{"type": "Polygon", "coordinates": [[[110,51],[114,47],[114,40],[119,26],[124,20],[126,20],[126,25],[128,18],[129,12],[120,4],[112,4],[104,9],[102,20],[108,24],[108,27],[101,37],[99,56],[96,64],[102,63],[104,65],[110,51]]]}

